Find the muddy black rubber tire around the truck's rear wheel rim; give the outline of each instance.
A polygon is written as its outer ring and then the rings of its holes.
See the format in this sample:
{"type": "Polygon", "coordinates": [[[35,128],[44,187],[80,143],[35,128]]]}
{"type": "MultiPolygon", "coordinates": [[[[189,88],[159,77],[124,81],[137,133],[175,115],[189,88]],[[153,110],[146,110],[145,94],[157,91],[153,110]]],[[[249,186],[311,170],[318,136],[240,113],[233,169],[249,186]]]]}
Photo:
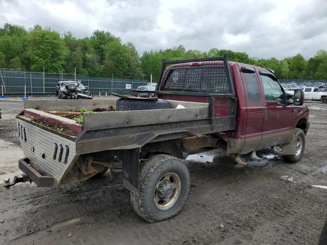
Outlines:
{"type": "Polygon", "coordinates": [[[161,154],[145,162],[139,176],[139,195],[131,192],[130,197],[135,212],[153,223],[178,214],[188,198],[189,191],[190,173],[186,165],[178,158],[161,154]],[[163,176],[170,173],[177,175],[180,179],[179,195],[171,207],[160,210],[154,201],[156,185],[163,176]]]}

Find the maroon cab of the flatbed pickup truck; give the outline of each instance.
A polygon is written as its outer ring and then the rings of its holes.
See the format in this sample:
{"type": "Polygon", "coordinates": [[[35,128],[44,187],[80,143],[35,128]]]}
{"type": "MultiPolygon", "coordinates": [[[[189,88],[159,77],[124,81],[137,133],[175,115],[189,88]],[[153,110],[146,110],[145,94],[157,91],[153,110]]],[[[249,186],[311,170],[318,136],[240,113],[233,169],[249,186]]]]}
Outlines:
{"type": "Polygon", "coordinates": [[[228,154],[244,154],[287,144],[295,128],[307,133],[309,109],[293,104],[293,95],[284,91],[272,70],[228,62],[230,89],[228,79],[212,82],[224,76],[219,67],[225,65],[219,61],[170,65],[157,85],[158,97],[190,102],[214,100],[216,117],[228,116],[229,105],[235,98],[235,130],[217,133],[227,141],[228,154]],[[212,94],[216,94],[214,98],[212,94]]]}

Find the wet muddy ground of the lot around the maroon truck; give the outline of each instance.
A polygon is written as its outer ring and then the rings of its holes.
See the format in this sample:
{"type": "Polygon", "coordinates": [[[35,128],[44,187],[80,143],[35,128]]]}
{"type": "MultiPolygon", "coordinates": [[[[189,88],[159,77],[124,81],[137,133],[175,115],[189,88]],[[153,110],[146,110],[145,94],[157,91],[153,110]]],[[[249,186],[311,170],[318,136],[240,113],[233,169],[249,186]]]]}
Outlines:
{"type": "MultiPolygon", "coordinates": [[[[186,161],[191,192],[175,217],[147,223],[133,211],[122,182],[106,173],[58,188],[19,183],[0,188],[1,244],[317,244],[327,218],[327,105],[307,103],[311,127],[305,155],[286,164],[272,151],[262,161],[186,161]],[[202,161],[202,162],[200,162],[202,161]],[[282,180],[292,176],[294,182],[282,180]]],[[[23,154],[14,116],[22,103],[0,101],[0,179],[19,173],[23,154]]],[[[327,229],[325,229],[327,230],[327,229]]]]}

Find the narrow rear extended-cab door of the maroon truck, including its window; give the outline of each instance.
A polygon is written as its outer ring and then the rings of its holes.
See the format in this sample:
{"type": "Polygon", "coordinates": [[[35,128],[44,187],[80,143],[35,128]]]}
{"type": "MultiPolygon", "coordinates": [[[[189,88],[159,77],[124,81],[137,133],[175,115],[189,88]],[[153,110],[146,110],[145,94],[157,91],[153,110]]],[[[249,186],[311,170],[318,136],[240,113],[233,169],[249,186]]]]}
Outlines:
{"type": "Polygon", "coordinates": [[[240,67],[246,102],[246,128],[243,152],[254,151],[262,139],[264,98],[254,66],[240,67]]]}

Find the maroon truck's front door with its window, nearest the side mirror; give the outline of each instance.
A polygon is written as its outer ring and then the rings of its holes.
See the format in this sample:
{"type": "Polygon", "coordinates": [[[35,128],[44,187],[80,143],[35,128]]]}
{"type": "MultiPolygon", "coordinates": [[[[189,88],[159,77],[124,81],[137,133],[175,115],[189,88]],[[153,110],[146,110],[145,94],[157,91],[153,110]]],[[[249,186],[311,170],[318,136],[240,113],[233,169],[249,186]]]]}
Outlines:
{"type": "Polygon", "coordinates": [[[265,94],[262,140],[259,149],[288,143],[292,137],[292,105],[286,105],[285,92],[270,72],[259,70],[265,94]]]}

